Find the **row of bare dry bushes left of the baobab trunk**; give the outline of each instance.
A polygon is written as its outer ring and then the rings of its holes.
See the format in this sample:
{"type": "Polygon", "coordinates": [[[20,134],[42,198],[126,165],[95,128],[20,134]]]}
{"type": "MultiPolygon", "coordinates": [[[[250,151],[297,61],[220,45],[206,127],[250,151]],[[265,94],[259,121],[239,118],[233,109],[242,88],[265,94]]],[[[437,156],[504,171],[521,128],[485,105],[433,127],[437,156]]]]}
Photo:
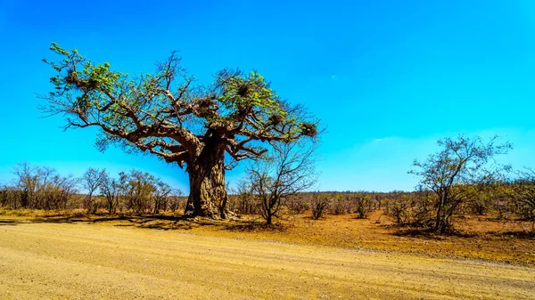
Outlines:
{"type": "Polygon", "coordinates": [[[106,170],[87,169],[81,177],[63,176],[50,167],[22,163],[13,168],[12,182],[0,184],[0,205],[29,209],[84,208],[108,213],[175,212],[185,206],[183,192],[152,174],[137,170],[112,176],[106,170]],[[83,192],[81,194],[80,192],[83,192]]]}

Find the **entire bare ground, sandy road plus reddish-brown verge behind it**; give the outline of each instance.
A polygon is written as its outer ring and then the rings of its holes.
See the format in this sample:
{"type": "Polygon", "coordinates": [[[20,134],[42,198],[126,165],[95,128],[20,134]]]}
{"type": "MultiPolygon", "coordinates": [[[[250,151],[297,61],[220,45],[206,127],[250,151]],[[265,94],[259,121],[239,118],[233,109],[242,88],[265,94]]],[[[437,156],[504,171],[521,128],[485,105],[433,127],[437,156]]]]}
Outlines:
{"type": "Polygon", "coordinates": [[[533,240],[468,221],[465,236],[435,237],[374,216],[297,216],[269,230],[0,216],[0,298],[532,299],[533,240]]]}

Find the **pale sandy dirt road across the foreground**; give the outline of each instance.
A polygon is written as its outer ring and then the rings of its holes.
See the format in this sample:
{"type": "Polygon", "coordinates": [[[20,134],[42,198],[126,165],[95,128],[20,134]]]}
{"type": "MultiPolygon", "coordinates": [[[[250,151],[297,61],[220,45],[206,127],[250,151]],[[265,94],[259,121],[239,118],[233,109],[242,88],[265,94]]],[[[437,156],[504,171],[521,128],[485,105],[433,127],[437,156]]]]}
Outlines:
{"type": "Polygon", "coordinates": [[[0,299],[535,299],[535,269],[109,224],[0,220],[0,299]]]}

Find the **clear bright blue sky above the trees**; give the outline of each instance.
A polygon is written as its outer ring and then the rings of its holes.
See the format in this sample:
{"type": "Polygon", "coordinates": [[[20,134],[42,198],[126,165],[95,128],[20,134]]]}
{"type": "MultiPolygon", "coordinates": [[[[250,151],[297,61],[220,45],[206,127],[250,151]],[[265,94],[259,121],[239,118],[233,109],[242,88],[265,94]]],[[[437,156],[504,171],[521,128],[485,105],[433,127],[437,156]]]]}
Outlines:
{"type": "Polygon", "coordinates": [[[531,0],[4,0],[0,37],[0,182],[26,160],[75,175],[136,167],[187,191],[178,167],[100,153],[95,130],[62,132],[62,118],[39,118],[52,41],[136,74],[171,50],[202,81],[225,67],[259,70],[327,126],[320,190],[412,190],[412,160],[458,133],[503,135],[514,144],[505,161],[535,166],[531,0]]]}

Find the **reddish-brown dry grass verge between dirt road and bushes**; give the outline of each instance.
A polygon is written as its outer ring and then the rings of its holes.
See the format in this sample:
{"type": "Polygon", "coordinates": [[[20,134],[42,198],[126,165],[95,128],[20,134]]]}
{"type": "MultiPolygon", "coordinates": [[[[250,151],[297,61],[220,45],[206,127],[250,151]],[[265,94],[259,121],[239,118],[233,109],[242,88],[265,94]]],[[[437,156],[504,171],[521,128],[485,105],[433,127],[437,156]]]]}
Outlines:
{"type": "MultiPolygon", "coordinates": [[[[103,223],[157,230],[190,231],[236,239],[279,240],[288,243],[398,251],[417,255],[465,257],[507,264],[535,265],[533,237],[523,234],[514,222],[498,222],[486,216],[467,216],[457,222],[458,234],[444,236],[394,226],[382,212],[368,219],[353,215],[327,215],[312,220],[307,215],[292,215],[266,227],[259,217],[244,216],[233,221],[206,219],[183,220],[171,215],[94,215],[83,211],[25,211],[21,220],[46,223],[103,223]],[[24,215],[25,214],[25,215],[24,215]]],[[[0,215],[21,215],[0,211],[0,215]]]]}

